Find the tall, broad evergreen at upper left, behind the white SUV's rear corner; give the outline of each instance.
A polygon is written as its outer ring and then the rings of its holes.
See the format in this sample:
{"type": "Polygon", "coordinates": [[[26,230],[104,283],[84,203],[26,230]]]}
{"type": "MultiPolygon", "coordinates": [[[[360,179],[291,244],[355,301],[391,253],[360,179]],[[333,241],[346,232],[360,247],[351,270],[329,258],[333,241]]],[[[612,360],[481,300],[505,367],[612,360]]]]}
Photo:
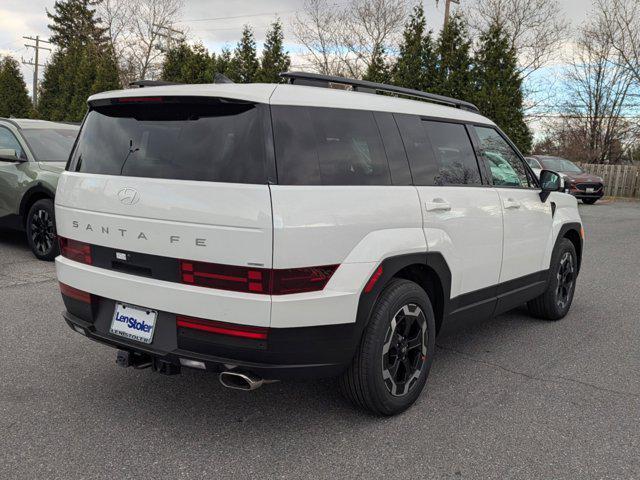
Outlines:
{"type": "Polygon", "coordinates": [[[98,26],[90,0],[55,3],[52,41],[58,47],[47,65],[40,87],[38,113],[42,118],[80,121],[90,95],[120,88],[113,49],[98,26]]]}

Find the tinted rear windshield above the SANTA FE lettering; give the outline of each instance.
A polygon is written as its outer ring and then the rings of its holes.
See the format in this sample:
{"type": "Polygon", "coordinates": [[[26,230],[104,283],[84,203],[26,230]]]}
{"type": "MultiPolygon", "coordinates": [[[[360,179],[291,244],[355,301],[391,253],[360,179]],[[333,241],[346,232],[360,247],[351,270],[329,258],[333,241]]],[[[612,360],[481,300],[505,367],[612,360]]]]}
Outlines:
{"type": "Polygon", "coordinates": [[[72,170],[267,183],[258,108],[234,103],[109,105],[89,112],[72,170]]]}

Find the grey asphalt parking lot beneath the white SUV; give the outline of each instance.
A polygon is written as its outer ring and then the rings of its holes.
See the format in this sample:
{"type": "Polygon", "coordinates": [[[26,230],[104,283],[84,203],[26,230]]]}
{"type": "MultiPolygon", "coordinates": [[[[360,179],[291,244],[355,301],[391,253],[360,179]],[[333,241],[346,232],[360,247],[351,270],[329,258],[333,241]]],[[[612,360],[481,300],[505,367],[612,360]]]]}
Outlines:
{"type": "Polygon", "coordinates": [[[573,308],[438,339],[396,418],[330,380],[224,389],[115,365],[72,332],[50,263],[0,232],[0,477],[640,478],[640,203],[581,205],[573,308]]]}

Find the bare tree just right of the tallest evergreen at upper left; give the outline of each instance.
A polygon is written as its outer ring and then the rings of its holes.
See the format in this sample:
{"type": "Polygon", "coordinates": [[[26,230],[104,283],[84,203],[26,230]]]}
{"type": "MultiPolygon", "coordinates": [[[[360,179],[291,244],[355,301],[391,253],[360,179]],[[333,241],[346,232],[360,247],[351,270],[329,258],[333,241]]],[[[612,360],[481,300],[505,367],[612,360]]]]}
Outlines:
{"type": "Polygon", "coordinates": [[[103,0],[98,5],[119,60],[123,85],[157,77],[164,55],[159,27],[171,27],[180,16],[183,3],[183,0],[103,0]]]}

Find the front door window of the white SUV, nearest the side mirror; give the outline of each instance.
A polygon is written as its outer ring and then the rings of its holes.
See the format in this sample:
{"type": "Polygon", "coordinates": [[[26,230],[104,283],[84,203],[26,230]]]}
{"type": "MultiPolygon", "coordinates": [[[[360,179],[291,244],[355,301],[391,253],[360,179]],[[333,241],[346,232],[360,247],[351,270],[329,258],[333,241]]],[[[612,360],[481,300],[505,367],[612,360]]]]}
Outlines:
{"type": "Polygon", "coordinates": [[[524,162],[506,140],[493,128],[474,128],[491,171],[493,185],[529,188],[531,183],[524,162]]]}

